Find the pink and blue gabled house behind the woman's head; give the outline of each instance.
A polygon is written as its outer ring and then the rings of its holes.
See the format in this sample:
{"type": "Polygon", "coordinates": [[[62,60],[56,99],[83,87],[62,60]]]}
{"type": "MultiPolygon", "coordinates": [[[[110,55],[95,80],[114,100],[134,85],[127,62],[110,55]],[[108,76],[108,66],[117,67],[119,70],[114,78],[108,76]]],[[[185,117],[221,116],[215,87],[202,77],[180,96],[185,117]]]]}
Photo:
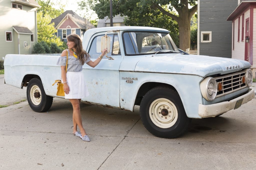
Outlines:
{"type": "Polygon", "coordinates": [[[72,10],[63,12],[57,18],[52,19],[51,23],[53,22],[55,29],[57,29],[55,34],[64,42],[67,42],[69,34],[78,34],[83,39],[86,30],[95,28],[90,21],[80,17],[72,10]]]}

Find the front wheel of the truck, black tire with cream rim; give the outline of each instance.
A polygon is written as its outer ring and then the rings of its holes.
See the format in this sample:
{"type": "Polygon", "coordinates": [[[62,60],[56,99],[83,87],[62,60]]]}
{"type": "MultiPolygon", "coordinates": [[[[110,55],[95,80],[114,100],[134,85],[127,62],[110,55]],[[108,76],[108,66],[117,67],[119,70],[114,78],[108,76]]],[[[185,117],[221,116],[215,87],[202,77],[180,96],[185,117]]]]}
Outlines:
{"type": "Polygon", "coordinates": [[[165,86],[148,91],[140,105],[141,120],[146,129],[161,138],[176,138],[186,132],[187,117],[178,93],[165,86]]]}

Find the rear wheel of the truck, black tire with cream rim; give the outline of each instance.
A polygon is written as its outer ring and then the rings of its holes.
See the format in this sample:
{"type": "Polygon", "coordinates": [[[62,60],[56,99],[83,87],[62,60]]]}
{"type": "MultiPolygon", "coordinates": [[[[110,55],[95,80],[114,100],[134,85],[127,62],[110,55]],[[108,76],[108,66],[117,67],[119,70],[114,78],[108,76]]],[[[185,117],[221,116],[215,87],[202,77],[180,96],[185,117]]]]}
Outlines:
{"type": "Polygon", "coordinates": [[[41,80],[33,78],[27,86],[27,100],[35,112],[45,112],[51,108],[53,97],[45,94],[41,80]]]}

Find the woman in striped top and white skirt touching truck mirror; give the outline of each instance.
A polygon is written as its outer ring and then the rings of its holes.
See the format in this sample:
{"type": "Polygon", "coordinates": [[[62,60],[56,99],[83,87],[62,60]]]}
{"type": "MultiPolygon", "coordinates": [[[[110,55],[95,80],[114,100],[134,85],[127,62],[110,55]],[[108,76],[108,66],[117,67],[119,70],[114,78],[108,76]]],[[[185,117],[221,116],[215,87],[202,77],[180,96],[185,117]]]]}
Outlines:
{"type": "Polygon", "coordinates": [[[68,67],[66,73],[66,61],[67,51],[63,50],[60,58],[57,61],[57,65],[61,68],[61,78],[63,82],[65,99],[69,99],[73,106],[73,134],[77,137],[81,137],[84,141],[90,141],[86,134],[80,113],[80,102],[84,97],[89,96],[89,91],[84,81],[82,66],[84,63],[91,67],[95,67],[99,64],[101,59],[106,53],[104,49],[102,54],[92,61],[90,55],[83,50],[82,41],[79,35],[71,34],[67,37],[68,45],[68,67]],[[81,131],[77,131],[77,125],[81,131]]]}

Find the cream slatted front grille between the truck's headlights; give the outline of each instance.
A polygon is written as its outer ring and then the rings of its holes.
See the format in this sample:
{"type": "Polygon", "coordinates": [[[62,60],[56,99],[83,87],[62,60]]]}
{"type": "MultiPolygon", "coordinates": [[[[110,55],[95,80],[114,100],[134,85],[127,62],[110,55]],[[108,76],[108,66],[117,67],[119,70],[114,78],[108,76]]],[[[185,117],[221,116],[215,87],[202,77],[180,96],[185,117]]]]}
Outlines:
{"type": "Polygon", "coordinates": [[[245,83],[242,83],[242,77],[245,75],[246,70],[215,77],[217,84],[222,84],[222,90],[217,91],[216,97],[220,97],[247,87],[245,83]]]}

